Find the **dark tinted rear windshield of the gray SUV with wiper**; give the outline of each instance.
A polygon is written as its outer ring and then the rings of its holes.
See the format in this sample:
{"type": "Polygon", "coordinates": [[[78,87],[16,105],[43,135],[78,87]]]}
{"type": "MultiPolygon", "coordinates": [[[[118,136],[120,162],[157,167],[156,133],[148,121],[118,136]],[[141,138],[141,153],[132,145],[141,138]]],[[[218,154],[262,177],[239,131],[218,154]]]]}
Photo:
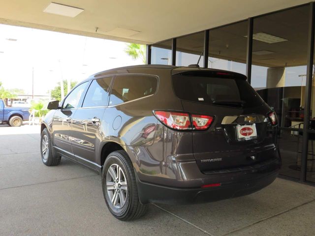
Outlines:
{"type": "Polygon", "coordinates": [[[176,74],[173,88],[180,99],[204,104],[254,107],[263,102],[251,85],[242,78],[220,78],[176,74]]]}

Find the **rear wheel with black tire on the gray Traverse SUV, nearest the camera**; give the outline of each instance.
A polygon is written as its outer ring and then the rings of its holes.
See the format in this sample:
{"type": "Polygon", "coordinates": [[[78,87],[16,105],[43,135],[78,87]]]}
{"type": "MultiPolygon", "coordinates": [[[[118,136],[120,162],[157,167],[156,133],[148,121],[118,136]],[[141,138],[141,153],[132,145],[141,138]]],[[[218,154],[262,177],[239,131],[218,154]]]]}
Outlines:
{"type": "Polygon", "coordinates": [[[105,160],[102,189],[109,211],[119,220],[132,220],[145,214],[147,205],[139,201],[135,173],[124,150],[114,151],[105,160]]]}

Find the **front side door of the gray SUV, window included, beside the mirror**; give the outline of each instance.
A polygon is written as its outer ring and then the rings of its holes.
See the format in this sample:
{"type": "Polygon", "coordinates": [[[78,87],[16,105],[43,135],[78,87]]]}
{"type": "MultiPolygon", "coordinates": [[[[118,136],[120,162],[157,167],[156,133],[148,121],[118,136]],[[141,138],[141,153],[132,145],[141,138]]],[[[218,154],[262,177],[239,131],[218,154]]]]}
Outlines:
{"type": "Polygon", "coordinates": [[[82,94],[88,82],[78,85],[64,99],[62,108],[58,109],[52,119],[52,138],[54,148],[61,155],[74,158],[72,151],[72,118],[76,109],[82,104],[82,94]],[[81,101],[81,103],[80,103],[81,101]]]}

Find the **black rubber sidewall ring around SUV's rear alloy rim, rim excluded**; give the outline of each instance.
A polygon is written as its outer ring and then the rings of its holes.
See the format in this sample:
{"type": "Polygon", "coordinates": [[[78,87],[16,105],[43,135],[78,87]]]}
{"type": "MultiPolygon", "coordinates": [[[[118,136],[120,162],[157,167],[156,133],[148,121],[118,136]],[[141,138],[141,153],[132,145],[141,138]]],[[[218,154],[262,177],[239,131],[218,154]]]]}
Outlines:
{"type": "Polygon", "coordinates": [[[104,163],[104,167],[103,167],[103,171],[102,171],[102,189],[103,189],[103,195],[105,198],[105,202],[106,205],[108,207],[108,209],[110,210],[110,212],[119,218],[124,218],[126,216],[126,214],[128,214],[130,207],[131,207],[131,203],[132,201],[132,196],[133,196],[133,189],[132,189],[132,184],[131,181],[131,173],[129,173],[127,167],[126,167],[126,160],[125,157],[123,155],[121,155],[118,152],[113,152],[111,153],[107,158],[106,161],[104,163]],[[126,204],[124,207],[117,209],[113,206],[113,204],[111,203],[111,200],[109,199],[109,196],[107,194],[107,189],[106,189],[106,175],[107,175],[107,171],[108,168],[112,165],[112,164],[117,164],[119,165],[122,169],[123,172],[125,174],[126,177],[126,181],[127,181],[127,196],[126,196],[126,204]]]}

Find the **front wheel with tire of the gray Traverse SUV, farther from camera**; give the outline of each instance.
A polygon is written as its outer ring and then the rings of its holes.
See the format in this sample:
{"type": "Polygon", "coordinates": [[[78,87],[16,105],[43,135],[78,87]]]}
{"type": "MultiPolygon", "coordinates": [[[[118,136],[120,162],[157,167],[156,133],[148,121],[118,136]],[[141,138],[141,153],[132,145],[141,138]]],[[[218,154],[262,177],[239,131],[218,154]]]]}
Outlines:
{"type": "Polygon", "coordinates": [[[50,135],[47,128],[43,129],[40,137],[40,153],[41,160],[46,166],[58,166],[61,161],[61,156],[54,155],[50,140],[50,135]]]}

